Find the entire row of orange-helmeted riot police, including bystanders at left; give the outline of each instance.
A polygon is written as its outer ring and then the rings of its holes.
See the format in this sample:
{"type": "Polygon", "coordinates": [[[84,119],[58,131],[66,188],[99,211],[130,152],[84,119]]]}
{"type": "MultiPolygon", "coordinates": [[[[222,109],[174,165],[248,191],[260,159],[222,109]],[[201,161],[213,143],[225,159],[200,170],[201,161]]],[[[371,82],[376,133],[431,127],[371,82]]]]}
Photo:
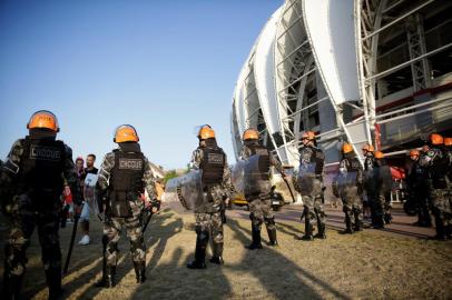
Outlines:
{"type": "MultiPolygon", "coordinates": [[[[151,164],[141,152],[139,138],[132,126],[119,126],[114,141],[118,148],[107,153],[98,170],[96,156],[89,154],[72,160],[71,149],[57,140],[59,126],[50,111],[37,111],[28,122],[29,134],[16,141],[1,163],[0,197],[2,212],[10,219],[11,228],[6,242],[6,261],[2,299],[16,299],[26,271],[26,250],[35,228],[42,248],[42,262],[49,287],[49,299],[61,297],[61,250],[59,227],[63,219],[80,220],[82,238],[79,244],[90,243],[89,216],[86,180],[98,176],[96,190],[98,206],[102,213],[102,277],[97,287],[112,288],[117,283],[118,241],[122,229],[127,231],[130,254],[137,283],[146,281],[146,246],[144,230],[149,218],[160,208],[161,189],[151,164]],[[45,176],[43,176],[45,174],[45,176]],[[147,197],[146,197],[147,196],[147,197]],[[70,209],[70,207],[73,207],[70,209]],[[144,218],[144,216],[149,216],[144,218]]],[[[198,148],[193,152],[190,168],[202,170],[202,204],[195,210],[196,247],[189,269],[205,269],[206,248],[212,240],[210,263],[223,264],[224,201],[238,192],[232,182],[226,153],[217,144],[210,126],[202,126],[197,132],[198,148]]],[[[391,222],[390,194],[391,171],[384,154],[371,144],[362,148],[365,157],[360,163],[352,144],[342,146],[342,159],[333,181],[333,193],[341,198],[345,213],[343,233],[363,230],[363,199],[371,210],[372,227],[384,228],[391,222]]],[[[412,150],[413,167],[409,174],[412,201],[419,213],[420,226],[431,226],[433,214],[435,238],[451,238],[451,139],[440,134],[430,136],[429,143],[421,151],[412,150]]],[[[299,166],[294,179],[295,189],[303,197],[302,219],[305,220],[304,241],[326,239],[326,213],[324,202],[325,156],[316,144],[312,131],[302,134],[299,166]],[[314,234],[315,228],[317,233],[314,234]]],[[[282,163],[259,143],[259,133],[247,129],[243,134],[240,161],[244,168],[240,186],[249,206],[252,241],[246,249],[263,249],[262,224],[268,234],[268,246],[278,247],[275,218],[272,212],[271,167],[286,180],[282,163]]],[[[92,203],[91,203],[92,204],[92,203]]],[[[92,208],[92,206],[91,206],[92,208]]],[[[72,239],[73,241],[73,239],[72,239]]]]}

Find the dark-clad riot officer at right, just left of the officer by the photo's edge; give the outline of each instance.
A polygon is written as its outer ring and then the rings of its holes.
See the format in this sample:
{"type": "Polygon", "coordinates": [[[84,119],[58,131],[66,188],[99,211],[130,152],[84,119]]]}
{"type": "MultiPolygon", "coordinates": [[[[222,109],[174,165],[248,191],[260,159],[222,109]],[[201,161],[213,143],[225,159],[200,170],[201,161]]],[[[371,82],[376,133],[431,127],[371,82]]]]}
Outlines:
{"type": "Polygon", "coordinates": [[[432,220],[428,204],[428,169],[419,164],[420,156],[421,153],[416,149],[410,151],[410,159],[413,163],[411,164],[407,176],[409,201],[412,202],[410,206],[414,207],[417,212],[417,221],[414,224],[431,227],[432,220]]]}

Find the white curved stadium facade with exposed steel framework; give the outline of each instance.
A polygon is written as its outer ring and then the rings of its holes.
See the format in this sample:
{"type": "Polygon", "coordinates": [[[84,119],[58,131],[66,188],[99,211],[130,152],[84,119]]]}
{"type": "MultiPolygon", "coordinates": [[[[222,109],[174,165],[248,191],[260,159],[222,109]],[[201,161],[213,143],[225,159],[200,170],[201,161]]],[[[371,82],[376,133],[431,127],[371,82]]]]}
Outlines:
{"type": "Polygon", "coordinates": [[[327,166],[344,140],[401,158],[422,134],[451,134],[452,1],[286,0],[239,72],[230,122],[236,157],[256,128],[287,166],[305,130],[327,166]]]}

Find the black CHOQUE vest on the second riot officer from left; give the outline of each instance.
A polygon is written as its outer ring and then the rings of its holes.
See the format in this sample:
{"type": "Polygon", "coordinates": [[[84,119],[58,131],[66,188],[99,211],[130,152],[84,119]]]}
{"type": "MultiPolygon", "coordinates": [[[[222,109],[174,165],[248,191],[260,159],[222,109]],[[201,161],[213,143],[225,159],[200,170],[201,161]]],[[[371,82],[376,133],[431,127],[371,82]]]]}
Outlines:
{"type": "Polygon", "coordinates": [[[110,174],[110,206],[114,216],[130,217],[128,201],[135,201],[145,190],[145,157],[141,152],[114,150],[115,167],[110,174]]]}

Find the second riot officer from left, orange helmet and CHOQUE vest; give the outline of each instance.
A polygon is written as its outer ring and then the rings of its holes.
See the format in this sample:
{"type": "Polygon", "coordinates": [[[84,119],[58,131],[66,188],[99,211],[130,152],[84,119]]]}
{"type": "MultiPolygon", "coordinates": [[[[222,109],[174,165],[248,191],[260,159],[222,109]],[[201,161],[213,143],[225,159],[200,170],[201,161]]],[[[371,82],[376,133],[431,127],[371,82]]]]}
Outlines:
{"type": "Polygon", "coordinates": [[[97,287],[112,288],[117,283],[118,241],[124,227],[130,240],[130,256],[137,283],[146,280],[146,247],[143,232],[145,203],[140,196],[146,189],[153,209],[158,208],[159,202],[156,199],[155,176],[138,141],[137,131],[132,126],[119,126],[114,138],[119,148],[105,156],[99,170],[97,190],[105,207],[105,220],[104,270],[97,287]]]}

